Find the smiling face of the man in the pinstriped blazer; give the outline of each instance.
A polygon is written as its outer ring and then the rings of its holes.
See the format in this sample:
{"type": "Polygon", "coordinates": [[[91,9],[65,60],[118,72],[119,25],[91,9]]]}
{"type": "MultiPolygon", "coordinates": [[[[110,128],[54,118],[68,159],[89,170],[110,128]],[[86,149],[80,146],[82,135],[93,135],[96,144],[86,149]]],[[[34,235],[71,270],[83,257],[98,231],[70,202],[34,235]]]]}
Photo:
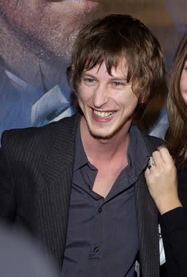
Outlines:
{"type": "Polygon", "coordinates": [[[125,58],[112,75],[105,63],[82,73],[78,89],[78,103],[84,114],[84,126],[91,136],[109,139],[127,132],[138,103],[138,97],[127,83],[128,66],[125,58]]]}

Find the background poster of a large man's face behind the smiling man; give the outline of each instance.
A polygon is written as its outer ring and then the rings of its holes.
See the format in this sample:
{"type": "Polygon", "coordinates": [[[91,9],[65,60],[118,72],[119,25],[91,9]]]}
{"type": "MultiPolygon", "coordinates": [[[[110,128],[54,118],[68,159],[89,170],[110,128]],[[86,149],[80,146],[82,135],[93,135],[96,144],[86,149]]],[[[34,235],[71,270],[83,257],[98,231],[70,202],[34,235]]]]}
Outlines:
{"type": "MultiPolygon", "coordinates": [[[[41,126],[73,113],[66,66],[78,30],[91,19],[126,13],[156,35],[168,72],[186,31],[186,0],[0,0],[0,136],[4,129],[41,126]]],[[[163,98],[150,105],[150,130],[163,98]]]]}

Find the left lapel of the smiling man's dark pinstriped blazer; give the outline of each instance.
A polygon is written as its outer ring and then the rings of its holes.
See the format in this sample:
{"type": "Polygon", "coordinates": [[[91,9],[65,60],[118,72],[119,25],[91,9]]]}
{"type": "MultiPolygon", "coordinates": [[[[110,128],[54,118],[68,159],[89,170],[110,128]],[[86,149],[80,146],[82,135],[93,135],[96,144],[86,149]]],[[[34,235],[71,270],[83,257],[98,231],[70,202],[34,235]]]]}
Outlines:
{"type": "Polygon", "coordinates": [[[78,118],[73,116],[61,120],[57,134],[54,132],[55,139],[49,145],[49,154],[42,172],[45,184],[39,196],[42,240],[60,268],[66,244],[78,118]]]}

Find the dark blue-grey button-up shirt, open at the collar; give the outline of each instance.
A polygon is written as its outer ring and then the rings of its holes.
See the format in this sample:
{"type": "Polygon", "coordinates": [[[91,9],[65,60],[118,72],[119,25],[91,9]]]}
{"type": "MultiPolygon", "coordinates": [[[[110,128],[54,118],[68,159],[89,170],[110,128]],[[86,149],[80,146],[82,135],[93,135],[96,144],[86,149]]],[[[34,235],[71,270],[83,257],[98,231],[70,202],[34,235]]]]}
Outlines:
{"type": "Polygon", "coordinates": [[[128,166],[107,197],[94,193],[97,168],[87,159],[78,129],[63,277],[134,276],[139,249],[134,183],[148,161],[148,150],[134,125],[127,159],[128,166]]]}

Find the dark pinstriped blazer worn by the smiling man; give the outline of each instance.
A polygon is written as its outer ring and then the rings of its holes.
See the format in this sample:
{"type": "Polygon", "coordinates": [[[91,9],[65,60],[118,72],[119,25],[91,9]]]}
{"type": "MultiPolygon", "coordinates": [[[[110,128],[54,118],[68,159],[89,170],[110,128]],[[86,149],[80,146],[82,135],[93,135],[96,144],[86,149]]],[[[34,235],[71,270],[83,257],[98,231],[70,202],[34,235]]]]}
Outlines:
{"type": "MultiPolygon", "coordinates": [[[[75,115],[44,127],[7,131],[3,133],[0,152],[0,216],[24,224],[60,268],[78,119],[75,115]]],[[[163,144],[160,139],[142,135],[150,154],[163,144]]],[[[136,183],[141,272],[143,277],[159,277],[157,209],[148,193],[144,172],[136,183]]]]}

